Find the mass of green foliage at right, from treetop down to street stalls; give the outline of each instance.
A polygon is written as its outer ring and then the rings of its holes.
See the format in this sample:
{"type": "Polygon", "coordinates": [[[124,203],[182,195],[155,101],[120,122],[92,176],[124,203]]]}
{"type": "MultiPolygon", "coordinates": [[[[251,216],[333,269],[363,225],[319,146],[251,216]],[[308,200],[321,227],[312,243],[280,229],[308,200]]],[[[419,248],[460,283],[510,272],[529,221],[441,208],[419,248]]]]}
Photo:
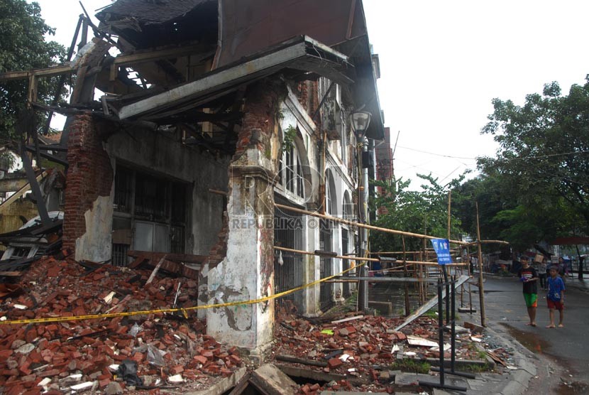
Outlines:
{"type": "MultiPolygon", "coordinates": [[[[475,234],[517,250],[566,234],[589,233],[589,79],[561,95],[556,82],[528,94],[523,106],[493,100],[483,134],[500,145],[480,158],[482,175],[456,188],[455,207],[475,234]]],[[[454,196],[454,195],[453,195],[454,196]]]]}

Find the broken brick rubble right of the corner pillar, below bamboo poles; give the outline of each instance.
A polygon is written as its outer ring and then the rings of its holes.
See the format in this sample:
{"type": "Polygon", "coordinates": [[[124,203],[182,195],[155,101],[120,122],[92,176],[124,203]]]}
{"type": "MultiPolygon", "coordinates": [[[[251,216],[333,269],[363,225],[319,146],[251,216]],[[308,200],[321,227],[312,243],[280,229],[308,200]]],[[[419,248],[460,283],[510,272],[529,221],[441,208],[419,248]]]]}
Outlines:
{"type": "MultiPolygon", "coordinates": [[[[394,375],[388,369],[403,359],[414,359],[434,366],[439,363],[439,345],[429,339],[439,335],[438,322],[426,315],[415,318],[402,331],[395,328],[404,318],[365,315],[346,320],[348,314],[329,319],[302,318],[290,309],[278,308],[276,344],[273,348],[276,366],[297,382],[308,380],[299,394],[321,391],[388,392],[393,388],[394,375]],[[383,373],[384,372],[384,373],[383,373]],[[322,385],[321,382],[331,381],[322,385]],[[318,388],[312,388],[319,382],[318,388]]],[[[355,315],[358,315],[357,313],[355,315]]],[[[450,358],[450,334],[444,333],[444,354],[450,358]]],[[[492,368],[480,361],[478,347],[486,343],[470,340],[470,330],[456,334],[456,363],[492,368]]]]}

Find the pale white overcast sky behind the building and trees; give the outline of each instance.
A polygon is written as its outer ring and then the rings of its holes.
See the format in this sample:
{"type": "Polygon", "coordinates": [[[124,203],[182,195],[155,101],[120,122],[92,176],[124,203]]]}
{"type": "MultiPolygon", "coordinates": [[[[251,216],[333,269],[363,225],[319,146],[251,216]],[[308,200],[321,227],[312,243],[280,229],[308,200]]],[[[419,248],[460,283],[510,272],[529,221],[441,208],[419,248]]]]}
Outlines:
{"type": "MultiPolygon", "coordinates": [[[[57,28],[53,39],[70,45],[82,13],[79,2],[38,3],[46,23],[57,28]]],[[[94,16],[111,1],[82,3],[94,16]]],[[[474,170],[476,156],[495,153],[492,138],[480,135],[494,97],[521,104],[551,81],[566,93],[589,73],[589,1],[363,3],[370,42],[380,56],[380,105],[392,144],[400,132],[397,177],[431,172],[444,185],[474,170]]]]}

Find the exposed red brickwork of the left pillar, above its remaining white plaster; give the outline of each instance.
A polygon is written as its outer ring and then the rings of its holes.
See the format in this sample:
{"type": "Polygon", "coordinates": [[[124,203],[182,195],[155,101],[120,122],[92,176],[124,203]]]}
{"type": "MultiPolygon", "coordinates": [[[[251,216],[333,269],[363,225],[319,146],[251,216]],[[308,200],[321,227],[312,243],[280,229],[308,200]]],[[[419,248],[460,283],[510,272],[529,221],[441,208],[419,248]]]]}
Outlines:
{"type": "Polygon", "coordinates": [[[98,124],[89,113],[75,116],[70,123],[63,248],[71,252],[75,250],[76,239],[86,232],[84,212],[92,208],[99,196],[111,193],[113,168],[100,133],[105,127],[106,124],[98,124]]]}

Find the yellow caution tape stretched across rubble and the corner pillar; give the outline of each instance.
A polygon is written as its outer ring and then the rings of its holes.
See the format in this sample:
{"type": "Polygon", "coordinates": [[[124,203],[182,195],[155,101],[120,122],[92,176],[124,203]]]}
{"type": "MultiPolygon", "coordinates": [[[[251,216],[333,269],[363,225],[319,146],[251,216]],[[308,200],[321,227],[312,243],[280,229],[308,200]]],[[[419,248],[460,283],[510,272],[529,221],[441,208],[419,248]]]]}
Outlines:
{"type": "Polygon", "coordinates": [[[316,284],[322,283],[324,281],[331,280],[331,278],[335,278],[337,276],[341,276],[348,271],[356,269],[363,264],[358,264],[357,266],[351,267],[350,269],[346,269],[341,271],[338,274],[334,274],[333,276],[320,278],[319,280],[313,281],[312,283],[307,283],[302,286],[298,286],[297,288],[289,289],[288,291],[283,291],[280,293],[275,293],[271,296],[265,296],[264,298],[253,299],[251,301],[238,301],[238,302],[227,302],[227,303],[217,303],[214,305],[197,305],[188,308],[160,308],[158,310],[141,310],[141,311],[129,311],[124,313],[106,313],[106,314],[89,314],[89,315],[75,315],[72,317],[46,317],[46,318],[31,318],[28,320],[6,320],[0,321],[0,325],[18,325],[18,324],[40,324],[40,323],[61,323],[64,321],[80,321],[80,320],[94,320],[97,318],[115,318],[115,317],[129,317],[131,315],[145,315],[145,314],[157,314],[157,313],[177,313],[180,312],[184,315],[185,318],[188,318],[188,310],[202,310],[205,308],[221,308],[221,307],[229,307],[234,305],[252,305],[255,303],[263,303],[266,301],[270,301],[276,298],[282,298],[282,296],[290,295],[291,293],[295,293],[297,291],[301,291],[304,288],[308,288],[310,286],[314,286],[316,284]]]}

